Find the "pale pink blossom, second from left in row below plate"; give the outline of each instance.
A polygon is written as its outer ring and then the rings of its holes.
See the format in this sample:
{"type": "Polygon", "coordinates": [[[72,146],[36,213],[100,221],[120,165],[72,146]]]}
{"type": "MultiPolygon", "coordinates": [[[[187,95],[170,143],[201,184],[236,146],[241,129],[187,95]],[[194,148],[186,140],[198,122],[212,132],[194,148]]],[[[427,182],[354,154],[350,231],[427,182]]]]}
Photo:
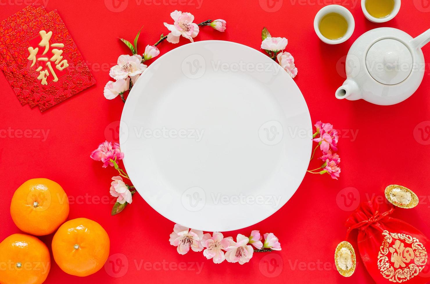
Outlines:
{"type": "Polygon", "coordinates": [[[214,263],[221,263],[225,260],[224,251],[229,245],[229,239],[224,238],[221,233],[214,232],[211,234],[206,233],[203,235],[202,245],[206,249],[203,255],[209,260],[212,258],[214,263]]]}

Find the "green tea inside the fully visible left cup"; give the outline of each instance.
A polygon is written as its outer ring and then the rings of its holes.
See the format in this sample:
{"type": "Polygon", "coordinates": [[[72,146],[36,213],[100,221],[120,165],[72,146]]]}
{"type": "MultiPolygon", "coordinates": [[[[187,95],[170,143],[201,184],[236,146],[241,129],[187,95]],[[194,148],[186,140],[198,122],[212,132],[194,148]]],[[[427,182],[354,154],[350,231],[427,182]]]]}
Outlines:
{"type": "Polygon", "coordinates": [[[324,15],[319,22],[319,31],[327,39],[341,39],[348,30],[348,22],[339,13],[331,12],[324,15]]]}

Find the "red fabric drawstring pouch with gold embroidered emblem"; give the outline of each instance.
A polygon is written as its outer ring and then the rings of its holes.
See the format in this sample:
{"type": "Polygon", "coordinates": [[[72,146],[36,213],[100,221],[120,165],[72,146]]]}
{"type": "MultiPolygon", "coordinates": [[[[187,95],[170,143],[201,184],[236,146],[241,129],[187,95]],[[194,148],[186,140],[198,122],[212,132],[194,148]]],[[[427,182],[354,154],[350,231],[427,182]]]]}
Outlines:
{"type": "Polygon", "coordinates": [[[377,284],[427,283],[429,239],[410,224],[389,217],[393,211],[381,212],[377,202],[363,202],[347,220],[346,239],[358,230],[362,262],[377,284]]]}

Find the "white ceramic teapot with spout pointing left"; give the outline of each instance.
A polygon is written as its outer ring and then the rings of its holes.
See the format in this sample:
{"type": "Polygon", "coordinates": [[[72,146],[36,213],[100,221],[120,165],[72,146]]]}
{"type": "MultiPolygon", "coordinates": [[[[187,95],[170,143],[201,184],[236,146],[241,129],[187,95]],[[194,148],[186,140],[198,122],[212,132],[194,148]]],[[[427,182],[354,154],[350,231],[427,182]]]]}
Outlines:
{"type": "Polygon", "coordinates": [[[430,42],[430,30],[416,37],[381,27],[360,36],[348,52],[347,79],[336,91],[338,99],[363,99],[388,106],[406,100],[424,78],[421,48],[430,42]]]}

